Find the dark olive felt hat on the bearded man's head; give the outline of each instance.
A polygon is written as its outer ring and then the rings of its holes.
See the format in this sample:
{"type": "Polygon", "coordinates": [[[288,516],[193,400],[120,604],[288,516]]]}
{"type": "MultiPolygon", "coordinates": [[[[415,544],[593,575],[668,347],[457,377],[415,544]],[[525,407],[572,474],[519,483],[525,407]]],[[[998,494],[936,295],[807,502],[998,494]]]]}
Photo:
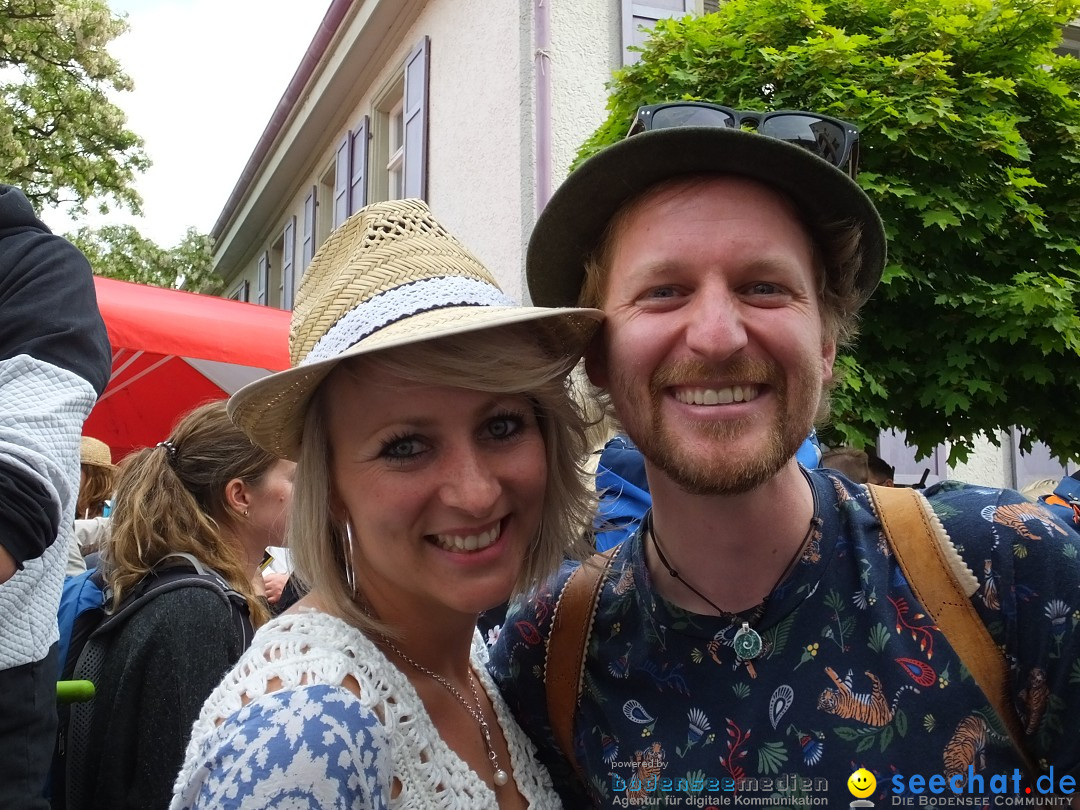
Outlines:
{"type": "Polygon", "coordinates": [[[532,301],[572,307],[585,259],[608,222],[630,200],[679,176],[740,175],[786,194],[811,222],[853,222],[861,230],[860,303],[881,279],[886,238],[881,217],[859,185],[798,146],[755,132],[680,126],[633,135],[570,173],[537,220],[526,256],[532,301]]]}

